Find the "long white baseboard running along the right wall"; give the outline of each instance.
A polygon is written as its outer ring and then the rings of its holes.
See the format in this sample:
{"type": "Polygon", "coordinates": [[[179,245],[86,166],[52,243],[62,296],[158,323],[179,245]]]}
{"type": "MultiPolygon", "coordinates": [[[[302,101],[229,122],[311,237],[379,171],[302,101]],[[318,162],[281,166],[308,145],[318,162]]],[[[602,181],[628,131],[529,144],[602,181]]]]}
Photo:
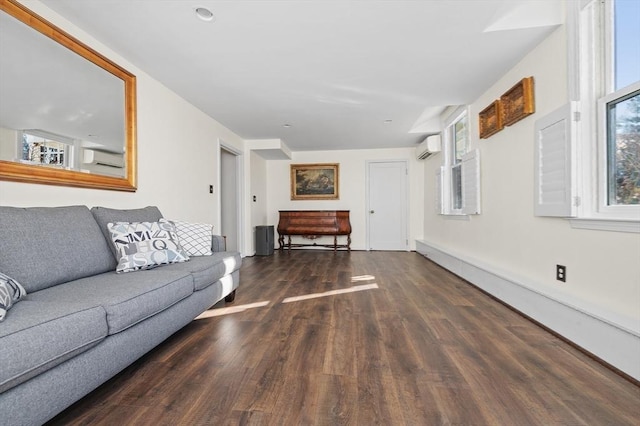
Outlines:
{"type": "Polygon", "coordinates": [[[634,320],[543,294],[487,265],[416,240],[416,251],[606,363],[640,380],[640,330],[634,320]]]}

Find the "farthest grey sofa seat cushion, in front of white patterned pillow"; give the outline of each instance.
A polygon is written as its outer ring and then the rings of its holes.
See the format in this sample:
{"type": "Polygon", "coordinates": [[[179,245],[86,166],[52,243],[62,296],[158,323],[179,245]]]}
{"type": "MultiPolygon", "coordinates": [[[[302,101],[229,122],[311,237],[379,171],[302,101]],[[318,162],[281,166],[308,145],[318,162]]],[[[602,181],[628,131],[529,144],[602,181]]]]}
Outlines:
{"type": "Polygon", "coordinates": [[[240,269],[242,258],[237,252],[218,252],[210,256],[194,256],[188,262],[175,263],[171,269],[183,271],[193,276],[194,290],[209,287],[225,275],[240,269]]]}

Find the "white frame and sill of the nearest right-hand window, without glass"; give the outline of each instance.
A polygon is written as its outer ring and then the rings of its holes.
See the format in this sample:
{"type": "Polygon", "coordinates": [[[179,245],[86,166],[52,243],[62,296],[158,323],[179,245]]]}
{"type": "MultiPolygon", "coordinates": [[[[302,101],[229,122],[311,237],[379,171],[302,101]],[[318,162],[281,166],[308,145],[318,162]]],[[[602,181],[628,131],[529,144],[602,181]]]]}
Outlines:
{"type": "Polygon", "coordinates": [[[568,86],[577,114],[577,218],[572,226],[640,232],[640,205],[608,204],[606,104],[634,91],[634,83],[613,91],[613,2],[567,4],[568,86]],[[611,48],[609,48],[611,46],[611,48]]]}

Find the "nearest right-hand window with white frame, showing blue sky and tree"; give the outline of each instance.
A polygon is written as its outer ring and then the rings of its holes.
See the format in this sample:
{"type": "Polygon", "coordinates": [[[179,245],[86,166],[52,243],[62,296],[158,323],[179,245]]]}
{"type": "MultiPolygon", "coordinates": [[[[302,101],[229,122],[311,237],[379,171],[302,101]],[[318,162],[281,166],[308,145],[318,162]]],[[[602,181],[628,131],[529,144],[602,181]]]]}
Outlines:
{"type": "MultiPolygon", "coordinates": [[[[570,91],[579,112],[577,216],[632,221],[631,227],[593,228],[638,232],[640,2],[591,0],[568,5],[573,16],[568,27],[570,91]]],[[[572,223],[592,227],[585,221],[572,223]]]]}

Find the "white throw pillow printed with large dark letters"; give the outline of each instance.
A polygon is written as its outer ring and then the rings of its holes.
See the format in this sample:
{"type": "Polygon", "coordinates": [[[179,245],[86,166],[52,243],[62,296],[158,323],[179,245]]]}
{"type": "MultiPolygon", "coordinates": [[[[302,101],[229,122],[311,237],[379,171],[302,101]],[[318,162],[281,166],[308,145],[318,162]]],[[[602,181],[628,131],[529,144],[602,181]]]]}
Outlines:
{"type": "Polygon", "coordinates": [[[107,226],[119,256],[116,272],[151,269],[189,260],[175,226],[169,222],[117,222],[107,226]]]}

